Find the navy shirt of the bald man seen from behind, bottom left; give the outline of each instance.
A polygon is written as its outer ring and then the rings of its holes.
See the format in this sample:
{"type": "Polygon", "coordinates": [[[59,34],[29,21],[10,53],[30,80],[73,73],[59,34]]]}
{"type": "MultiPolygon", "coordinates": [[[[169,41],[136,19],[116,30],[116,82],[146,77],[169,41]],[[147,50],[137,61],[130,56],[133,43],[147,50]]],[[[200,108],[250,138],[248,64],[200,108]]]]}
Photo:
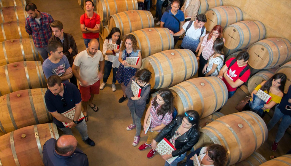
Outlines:
{"type": "Polygon", "coordinates": [[[55,145],[57,140],[50,138],[43,145],[43,163],[45,166],[88,166],[88,158],[83,151],[76,148],[71,156],[61,156],[56,153],[55,145]]]}

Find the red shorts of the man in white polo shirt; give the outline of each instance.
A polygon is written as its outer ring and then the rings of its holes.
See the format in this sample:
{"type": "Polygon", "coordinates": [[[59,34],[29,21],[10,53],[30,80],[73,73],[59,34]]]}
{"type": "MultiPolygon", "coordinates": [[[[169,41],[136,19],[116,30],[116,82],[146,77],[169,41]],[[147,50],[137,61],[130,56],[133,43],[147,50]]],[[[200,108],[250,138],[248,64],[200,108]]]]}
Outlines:
{"type": "Polygon", "coordinates": [[[82,101],[85,101],[85,102],[89,101],[89,99],[91,98],[91,94],[98,95],[99,87],[100,87],[100,80],[86,87],[83,87],[80,85],[82,101]]]}

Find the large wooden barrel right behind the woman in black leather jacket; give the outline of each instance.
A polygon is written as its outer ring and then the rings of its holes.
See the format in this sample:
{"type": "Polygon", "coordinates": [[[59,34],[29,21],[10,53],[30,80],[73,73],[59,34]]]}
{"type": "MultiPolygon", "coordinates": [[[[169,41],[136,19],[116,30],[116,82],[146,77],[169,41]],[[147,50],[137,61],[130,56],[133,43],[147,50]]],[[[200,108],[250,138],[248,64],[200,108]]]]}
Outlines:
{"type": "Polygon", "coordinates": [[[227,149],[227,164],[233,165],[254,153],[268,138],[263,119],[252,111],[229,114],[200,130],[194,149],[205,144],[220,144],[227,149]]]}

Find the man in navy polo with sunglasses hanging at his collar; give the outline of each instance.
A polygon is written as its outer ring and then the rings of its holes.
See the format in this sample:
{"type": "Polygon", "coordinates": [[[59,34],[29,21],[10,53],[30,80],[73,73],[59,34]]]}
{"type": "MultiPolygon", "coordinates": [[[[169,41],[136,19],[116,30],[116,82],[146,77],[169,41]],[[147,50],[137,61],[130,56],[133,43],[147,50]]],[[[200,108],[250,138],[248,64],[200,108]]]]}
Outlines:
{"type": "Polygon", "coordinates": [[[53,122],[64,134],[73,135],[71,128],[76,127],[82,136],[82,140],[90,146],[95,146],[87,133],[87,125],[84,119],[78,121],[82,110],[82,98],[78,88],[72,83],[62,83],[59,76],[50,76],[47,80],[48,89],[45,92],[45,104],[53,116],[53,122]],[[71,120],[62,113],[75,108],[74,119],[71,120]],[[63,122],[68,123],[67,127],[63,122]]]}

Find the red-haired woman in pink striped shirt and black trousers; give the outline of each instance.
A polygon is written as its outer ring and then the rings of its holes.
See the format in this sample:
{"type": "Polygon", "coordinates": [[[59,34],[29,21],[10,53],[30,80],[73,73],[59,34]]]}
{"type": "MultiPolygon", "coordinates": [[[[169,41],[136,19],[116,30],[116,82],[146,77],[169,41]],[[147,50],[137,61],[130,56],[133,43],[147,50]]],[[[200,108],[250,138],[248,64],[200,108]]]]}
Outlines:
{"type": "MultiPolygon", "coordinates": [[[[212,31],[205,35],[201,43],[197,54],[197,61],[199,61],[198,77],[203,77],[203,68],[207,63],[207,60],[213,55],[213,43],[217,38],[222,39],[222,27],[220,25],[215,25],[212,31]],[[202,56],[200,56],[202,55],[202,56]]],[[[225,42],[225,39],[222,39],[225,42]]]]}

